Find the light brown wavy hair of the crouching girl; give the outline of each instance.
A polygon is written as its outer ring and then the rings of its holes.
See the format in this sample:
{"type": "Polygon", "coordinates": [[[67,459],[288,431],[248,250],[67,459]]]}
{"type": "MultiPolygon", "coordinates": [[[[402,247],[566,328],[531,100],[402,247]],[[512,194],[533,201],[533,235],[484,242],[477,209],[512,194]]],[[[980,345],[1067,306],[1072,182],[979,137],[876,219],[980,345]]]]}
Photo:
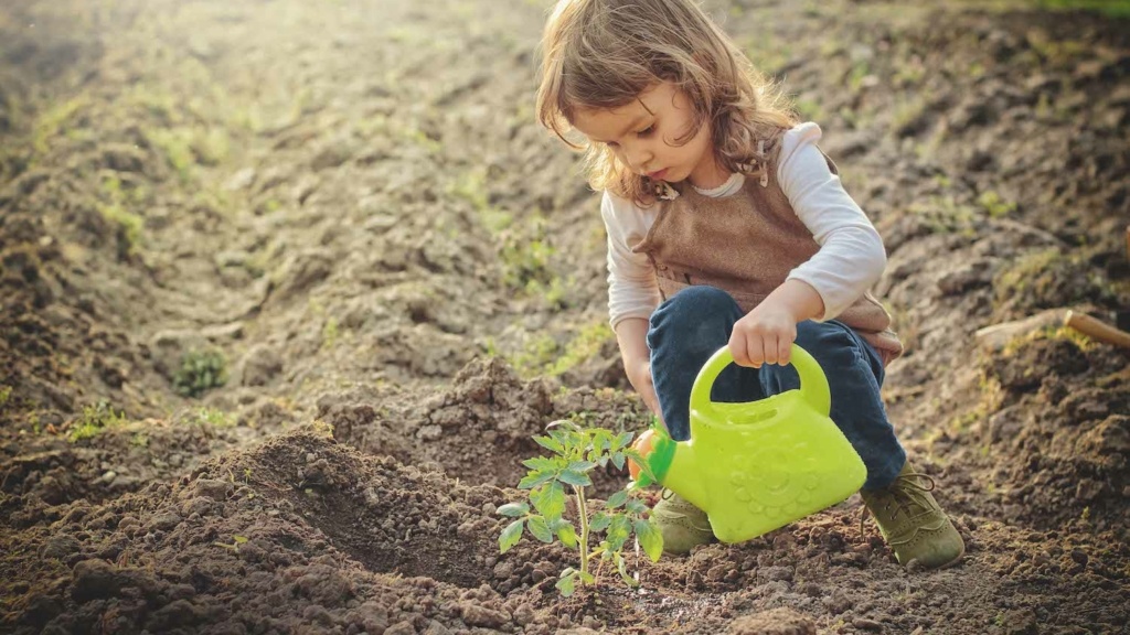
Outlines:
{"type": "Polygon", "coordinates": [[[541,41],[538,121],[585,153],[593,189],[638,205],[655,201],[657,183],[634,174],[603,143],[572,141],[567,133],[577,111],[620,107],[664,81],[694,111],[692,130],[676,142],[709,124],[715,158],[730,172],[765,169],[758,140],[773,140],[798,122],[777,86],[693,0],[557,2],[541,41]]]}

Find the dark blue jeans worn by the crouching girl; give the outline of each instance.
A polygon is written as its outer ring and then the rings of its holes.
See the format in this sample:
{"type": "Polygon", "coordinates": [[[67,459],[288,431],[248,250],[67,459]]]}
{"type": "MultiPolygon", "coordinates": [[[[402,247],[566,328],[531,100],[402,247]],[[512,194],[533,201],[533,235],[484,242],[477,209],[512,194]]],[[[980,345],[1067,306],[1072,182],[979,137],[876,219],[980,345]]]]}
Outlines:
{"type": "MultiPolygon", "coordinates": [[[[651,315],[647,347],[651,375],[667,429],[677,441],[690,436],[690,386],[699,368],[727,346],[733,324],[745,313],[730,295],[706,286],[675,294],[651,315]]],[[[879,395],[884,369],[879,355],[859,333],[835,320],[797,324],[797,343],[810,353],[828,377],[832,420],[867,466],[863,489],[890,485],[906,462],[879,395]]],[[[731,364],[714,382],[714,401],[756,401],[800,388],[791,366],[731,364]]]]}

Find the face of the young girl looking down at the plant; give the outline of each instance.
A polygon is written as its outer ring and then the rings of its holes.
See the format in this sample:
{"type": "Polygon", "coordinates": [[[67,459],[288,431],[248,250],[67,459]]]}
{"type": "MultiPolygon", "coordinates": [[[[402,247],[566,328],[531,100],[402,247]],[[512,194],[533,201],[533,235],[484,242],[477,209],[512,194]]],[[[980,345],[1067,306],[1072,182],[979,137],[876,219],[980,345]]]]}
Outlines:
{"type": "Polygon", "coordinates": [[[714,159],[709,125],[676,145],[692,130],[694,111],[671,82],[657,84],[617,108],[579,110],[572,123],[593,143],[611,148],[632,172],[655,181],[716,188],[729,177],[714,159]]]}

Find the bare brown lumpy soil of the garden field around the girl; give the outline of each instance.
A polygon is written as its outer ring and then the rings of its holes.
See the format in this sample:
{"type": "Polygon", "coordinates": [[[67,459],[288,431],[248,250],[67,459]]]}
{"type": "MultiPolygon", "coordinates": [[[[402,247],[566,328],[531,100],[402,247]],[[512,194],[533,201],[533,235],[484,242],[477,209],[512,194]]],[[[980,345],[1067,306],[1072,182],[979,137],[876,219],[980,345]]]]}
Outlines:
{"type": "Polygon", "coordinates": [[[562,598],[495,510],[548,423],[647,417],[532,116],[547,5],[3,2],[0,632],[1124,633],[1128,351],[974,333],[1130,306],[1130,23],[706,5],[885,237],[889,414],[967,554],[899,566],[854,496],[562,598]]]}

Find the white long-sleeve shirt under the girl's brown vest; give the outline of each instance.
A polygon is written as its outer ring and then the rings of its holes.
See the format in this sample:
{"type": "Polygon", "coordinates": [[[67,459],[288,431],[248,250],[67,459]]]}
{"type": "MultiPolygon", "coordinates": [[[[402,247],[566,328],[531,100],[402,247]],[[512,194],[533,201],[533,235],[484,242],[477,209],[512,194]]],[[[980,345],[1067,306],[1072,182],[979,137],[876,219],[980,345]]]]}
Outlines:
{"type": "MultiPolygon", "coordinates": [[[[824,301],[820,321],[832,320],[875,285],[887,264],[883,238],[832,173],[817,148],[820,128],[801,123],[782,137],[777,183],[801,223],[812,233],[819,251],[793,269],[786,279],[810,285],[824,301]]],[[[745,175],[712,190],[709,197],[728,197],[741,190],[745,175]]],[[[632,246],[647,235],[659,205],[642,208],[605,192],[600,214],[608,232],[608,313],[615,329],[626,318],[647,319],[659,306],[659,286],[647,255],[632,246]]],[[[757,245],[749,245],[756,250],[757,245]]]]}

